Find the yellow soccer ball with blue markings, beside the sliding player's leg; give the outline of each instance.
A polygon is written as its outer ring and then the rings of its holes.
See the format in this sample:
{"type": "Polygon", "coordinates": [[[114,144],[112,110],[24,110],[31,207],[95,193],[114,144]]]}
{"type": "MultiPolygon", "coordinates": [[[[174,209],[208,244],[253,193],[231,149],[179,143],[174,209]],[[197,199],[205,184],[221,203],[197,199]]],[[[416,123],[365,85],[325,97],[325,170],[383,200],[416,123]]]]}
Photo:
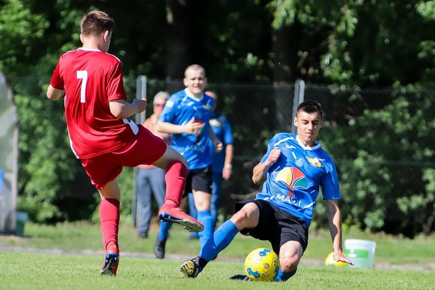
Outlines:
{"type": "Polygon", "coordinates": [[[280,268],[277,254],[265,248],[255,249],[245,260],[245,273],[252,281],[272,281],[280,268]]]}

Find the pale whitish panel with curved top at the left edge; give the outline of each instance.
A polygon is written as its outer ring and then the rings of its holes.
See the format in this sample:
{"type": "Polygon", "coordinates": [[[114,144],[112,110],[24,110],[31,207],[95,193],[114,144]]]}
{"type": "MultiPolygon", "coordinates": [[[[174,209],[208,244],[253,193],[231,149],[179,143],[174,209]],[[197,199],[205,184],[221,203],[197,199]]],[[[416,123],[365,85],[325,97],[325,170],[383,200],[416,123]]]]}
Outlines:
{"type": "Polygon", "coordinates": [[[0,232],[16,229],[18,122],[12,91],[0,72],[0,232]]]}

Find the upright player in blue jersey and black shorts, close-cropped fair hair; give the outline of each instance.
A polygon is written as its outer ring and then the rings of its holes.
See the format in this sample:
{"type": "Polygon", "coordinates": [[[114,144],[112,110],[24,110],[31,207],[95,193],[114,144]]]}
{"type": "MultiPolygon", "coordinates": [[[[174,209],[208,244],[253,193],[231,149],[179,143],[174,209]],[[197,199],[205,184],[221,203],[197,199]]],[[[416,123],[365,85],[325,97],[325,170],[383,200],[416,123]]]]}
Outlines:
{"type": "MultiPolygon", "coordinates": [[[[204,94],[207,83],[205,70],[198,64],[188,66],[184,72],[184,90],[167,100],[157,122],[157,130],[171,134],[171,147],[187,159],[187,177],[184,195],[192,192],[198,210],[198,222],[204,225],[199,234],[201,246],[213,232],[210,213],[211,155],[208,147],[212,140],[215,150],[222,150],[222,143],[210,130],[209,120],[214,100],[204,94]]],[[[162,222],[154,246],[157,258],[164,258],[165,244],[171,223],[162,222]]]]}

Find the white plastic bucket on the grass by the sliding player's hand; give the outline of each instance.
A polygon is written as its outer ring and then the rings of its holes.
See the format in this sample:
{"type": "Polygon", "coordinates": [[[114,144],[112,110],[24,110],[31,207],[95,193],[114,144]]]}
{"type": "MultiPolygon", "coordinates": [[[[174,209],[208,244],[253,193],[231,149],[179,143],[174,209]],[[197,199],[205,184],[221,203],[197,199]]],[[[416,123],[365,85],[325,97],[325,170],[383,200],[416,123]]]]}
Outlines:
{"type": "Polygon", "coordinates": [[[344,252],[346,256],[355,263],[351,267],[372,268],[375,257],[376,242],[364,239],[346,239],[344,241],[344,252]]]}

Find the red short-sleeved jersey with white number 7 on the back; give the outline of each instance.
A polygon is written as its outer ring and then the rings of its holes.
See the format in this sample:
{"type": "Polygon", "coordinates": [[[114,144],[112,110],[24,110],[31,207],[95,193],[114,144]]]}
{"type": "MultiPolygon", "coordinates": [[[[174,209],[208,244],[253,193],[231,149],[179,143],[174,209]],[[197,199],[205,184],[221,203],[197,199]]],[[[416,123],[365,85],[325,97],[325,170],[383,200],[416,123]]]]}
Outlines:
{"type": "Polygon", "coordinates": [[[81,159],[129,146],[137,125],[112,115],[109,101],[127,99],[122,66],[115,56],[78,49],[63,54],[50,84],[65,90],[65,118],[71,149],[81,159]]]}

